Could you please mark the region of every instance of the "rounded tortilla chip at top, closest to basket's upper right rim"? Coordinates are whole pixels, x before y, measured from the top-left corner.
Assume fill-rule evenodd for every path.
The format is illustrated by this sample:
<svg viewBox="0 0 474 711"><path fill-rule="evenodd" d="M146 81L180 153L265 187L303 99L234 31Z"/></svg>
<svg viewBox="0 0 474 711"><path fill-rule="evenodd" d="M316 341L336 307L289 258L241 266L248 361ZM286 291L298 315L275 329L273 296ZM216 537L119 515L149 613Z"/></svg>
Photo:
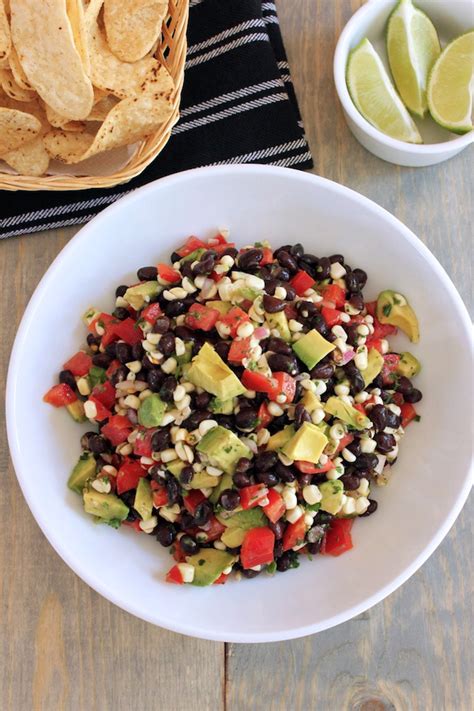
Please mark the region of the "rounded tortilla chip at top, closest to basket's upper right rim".
<svg viewBox="0 0 474 711"><path fill-rule="evenodd" d="M104 25L110 49L122 62L148 54L161 32L168 0L104 0Z"/></svg>

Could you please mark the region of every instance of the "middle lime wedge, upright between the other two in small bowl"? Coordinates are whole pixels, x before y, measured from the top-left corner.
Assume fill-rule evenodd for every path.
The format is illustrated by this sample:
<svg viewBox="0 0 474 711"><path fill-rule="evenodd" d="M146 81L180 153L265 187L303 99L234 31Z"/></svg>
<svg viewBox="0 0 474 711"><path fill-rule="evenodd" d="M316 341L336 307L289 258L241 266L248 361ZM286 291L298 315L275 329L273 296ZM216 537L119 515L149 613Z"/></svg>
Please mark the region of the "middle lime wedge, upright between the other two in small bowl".
<svg viewBox="0 0 474 711"><path fill-rule="evenodd" d="M388 61L403 103L421 118L428 108L428 75L440 52L430 18L411 0L400 0L388 21Z"/></svg>

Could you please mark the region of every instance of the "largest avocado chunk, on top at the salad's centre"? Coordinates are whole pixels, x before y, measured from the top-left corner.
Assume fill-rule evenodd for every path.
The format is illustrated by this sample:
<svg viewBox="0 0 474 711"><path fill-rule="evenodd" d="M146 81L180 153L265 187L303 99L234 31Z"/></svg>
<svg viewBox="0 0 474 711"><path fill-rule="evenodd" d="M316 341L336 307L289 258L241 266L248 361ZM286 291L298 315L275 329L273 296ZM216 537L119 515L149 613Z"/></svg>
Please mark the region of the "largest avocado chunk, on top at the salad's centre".
<svg viewBox="0 0 474 711"><path fill-rule="evenodd" d="M209 343L205 343L193 358L186 377L220 400L229 400L245 392L238 377Z"/></svg>

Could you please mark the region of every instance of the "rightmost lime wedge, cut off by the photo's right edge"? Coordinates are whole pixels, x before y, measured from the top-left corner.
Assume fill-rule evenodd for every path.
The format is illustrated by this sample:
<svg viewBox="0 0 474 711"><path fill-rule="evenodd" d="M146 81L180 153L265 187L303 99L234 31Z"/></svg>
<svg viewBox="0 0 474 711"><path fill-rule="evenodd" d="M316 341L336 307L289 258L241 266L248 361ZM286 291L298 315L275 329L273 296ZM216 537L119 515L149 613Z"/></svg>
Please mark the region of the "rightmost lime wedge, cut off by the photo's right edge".
<svg viewBox="0 0 474 711"><path fill-rule="evenodd" d="M474 30L444 48L428 81L428 107L436 123L454 133L472 130Z"/></svg>

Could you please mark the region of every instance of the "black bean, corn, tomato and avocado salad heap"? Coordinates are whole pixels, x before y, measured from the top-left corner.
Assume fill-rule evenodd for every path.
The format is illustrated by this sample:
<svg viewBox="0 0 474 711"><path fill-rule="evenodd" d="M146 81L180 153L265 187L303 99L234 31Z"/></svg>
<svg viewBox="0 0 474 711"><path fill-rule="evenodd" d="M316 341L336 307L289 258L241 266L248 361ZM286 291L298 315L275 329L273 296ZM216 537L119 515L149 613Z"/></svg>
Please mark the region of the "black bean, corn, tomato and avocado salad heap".
<svg viewBox="0 0 474 711"><path fill-rule="evenodd" d="M68 486L85 511L153 535L172 583L223 583L352 548L377 509L408 423L419 340L391 290L303 245L242 249L190 237L171 265L142 267L115 308L90 308L87 347L45 401L94 430Z"/></svg>

